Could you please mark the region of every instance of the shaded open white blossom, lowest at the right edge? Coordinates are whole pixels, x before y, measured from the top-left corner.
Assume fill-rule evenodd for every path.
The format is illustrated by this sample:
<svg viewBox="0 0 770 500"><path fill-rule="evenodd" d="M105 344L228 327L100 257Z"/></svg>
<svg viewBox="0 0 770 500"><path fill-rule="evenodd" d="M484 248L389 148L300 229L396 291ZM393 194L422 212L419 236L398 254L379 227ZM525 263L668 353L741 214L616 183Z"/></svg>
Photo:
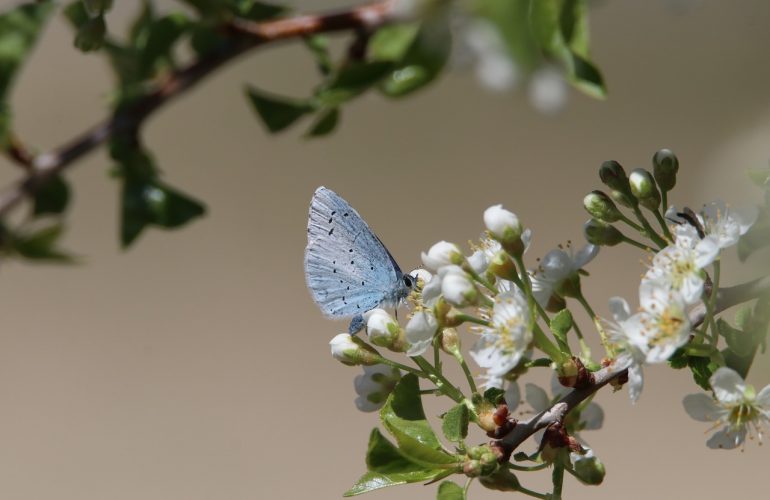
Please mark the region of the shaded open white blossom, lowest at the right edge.
<svg viewBox="0 0 770 500"><path fill-rule="evenodd" d="M719 431L706 442L709 448L733 449L747 435L757 434L762 440L763 427L770 422L770 385L757 394L731 368L719 368L709 379L714 397L706 394L685 396L684 409L695 420L713 422Z"/></svg>

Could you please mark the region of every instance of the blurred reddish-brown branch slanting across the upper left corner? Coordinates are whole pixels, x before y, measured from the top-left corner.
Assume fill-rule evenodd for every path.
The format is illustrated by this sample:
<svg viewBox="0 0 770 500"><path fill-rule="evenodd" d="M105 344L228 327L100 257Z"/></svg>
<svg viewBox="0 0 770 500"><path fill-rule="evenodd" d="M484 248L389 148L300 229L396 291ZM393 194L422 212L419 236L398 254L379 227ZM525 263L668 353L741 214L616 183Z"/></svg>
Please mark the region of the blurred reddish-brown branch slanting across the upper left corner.
<svg viewBox="0 0 770 500"><path fill-rule="evenodd" d="M400 14L399 10L398 0L384 0L347 10L299 15L274 21L258 23L236 19L229 22L222 26L222 32L229 40L223 50L202 56L172 72L132 105L116 111L112 116L61 146L33 157L21 142L15 142L15 146L8 151L9 157L25 167L28 173L0 192L0 216L6 215L49 179L111 137L135 133L154 111L244 52L273 42L318 33L347 30L360 33L361 30L370 30L396 20Z"/></svg>

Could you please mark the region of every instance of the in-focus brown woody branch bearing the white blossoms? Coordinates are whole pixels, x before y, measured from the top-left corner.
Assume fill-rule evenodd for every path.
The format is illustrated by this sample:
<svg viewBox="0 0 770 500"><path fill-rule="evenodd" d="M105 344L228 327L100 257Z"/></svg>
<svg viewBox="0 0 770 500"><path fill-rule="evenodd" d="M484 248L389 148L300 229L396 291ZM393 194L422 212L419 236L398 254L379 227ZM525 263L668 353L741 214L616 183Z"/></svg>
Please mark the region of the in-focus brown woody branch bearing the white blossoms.
<svg viewBox="0 0 770 500"><path fill-rule="evenodd" d="M731 287L720 288L717 292L717 305L714 314L755 299L768 292L770 292L770 276ZM706 307L700 304L690 312L689 316L692 327L697 327L703 323L706 317ZM609 366L594 372L592 375L593 382L590 385L573 390L550 408L546 408L528 420L517 422L513 429L496 443L504 451L504 456L510 457L511 453L521 443L540 429L545 429L552 424L562 423L570 410L613 380L627 377L628 370L618 370L613 366Z"/></svg>

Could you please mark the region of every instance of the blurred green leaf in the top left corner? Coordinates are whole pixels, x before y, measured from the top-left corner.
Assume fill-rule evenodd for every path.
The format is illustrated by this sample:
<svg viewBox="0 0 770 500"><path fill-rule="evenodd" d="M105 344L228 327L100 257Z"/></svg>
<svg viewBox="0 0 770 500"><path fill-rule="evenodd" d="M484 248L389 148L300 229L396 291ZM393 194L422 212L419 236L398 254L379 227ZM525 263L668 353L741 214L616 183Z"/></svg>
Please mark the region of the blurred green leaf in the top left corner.
<svg viewBox="0 0 770 500"><path fill-rule="evenodd" d="M53 9L52 1L26 2L0 14L0 148L10 140L11 86Z"/></svg>

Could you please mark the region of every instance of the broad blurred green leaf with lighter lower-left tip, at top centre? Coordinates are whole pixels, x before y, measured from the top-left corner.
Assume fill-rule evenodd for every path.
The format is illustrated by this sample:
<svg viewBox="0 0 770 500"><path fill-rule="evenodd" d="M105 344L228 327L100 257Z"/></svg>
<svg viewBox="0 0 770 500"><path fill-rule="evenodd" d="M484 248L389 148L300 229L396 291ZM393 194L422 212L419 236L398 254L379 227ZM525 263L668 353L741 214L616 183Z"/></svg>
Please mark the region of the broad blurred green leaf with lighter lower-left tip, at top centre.
<svg viewBox="0 0 770 500"><path fill-rule="evenodd" d="M424 87L444 69L451 48L449 13L439 9L422 22L398 67L383 80L380 90L389 97L402 97ZM395 53L398 48L389 49Z"/></svg>

